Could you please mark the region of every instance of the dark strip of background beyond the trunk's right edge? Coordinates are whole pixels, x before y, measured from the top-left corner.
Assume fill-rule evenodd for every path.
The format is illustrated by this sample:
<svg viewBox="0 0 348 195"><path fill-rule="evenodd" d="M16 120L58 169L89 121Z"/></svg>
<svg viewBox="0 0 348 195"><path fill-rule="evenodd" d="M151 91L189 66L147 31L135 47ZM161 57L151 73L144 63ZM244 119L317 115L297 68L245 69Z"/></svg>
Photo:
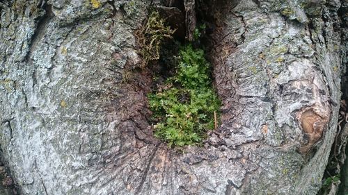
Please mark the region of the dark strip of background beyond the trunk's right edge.
<svg viewBox="0 0 348 195"><path fill-rule="evenodd" d="M348 60L347 60L347 24L348 17L347 6L345 1L341 1L342 5L338 10L338 17L340 23L335 26L336 31L340 31L341 34L341 48L340 56L342 64L340 67L341 72L341 99L340 99L340 112L338 119L338 129L335 135L335 141L331 148L329 162L326 166L323 186L318 194L334 193L343 195L348 193Z"/></svg>

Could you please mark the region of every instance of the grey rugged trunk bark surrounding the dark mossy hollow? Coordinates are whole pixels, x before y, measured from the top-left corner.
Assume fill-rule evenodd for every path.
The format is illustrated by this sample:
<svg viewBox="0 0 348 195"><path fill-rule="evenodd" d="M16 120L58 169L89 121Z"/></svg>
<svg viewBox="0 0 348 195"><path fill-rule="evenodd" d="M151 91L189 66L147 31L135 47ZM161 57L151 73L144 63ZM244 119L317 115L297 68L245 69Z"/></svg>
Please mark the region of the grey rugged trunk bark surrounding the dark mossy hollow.
<svg viewBox="0 0 348 195"><path fill-rule="evenodd" d="M165 5L0 2L1 155L20 194L317 193L347 2L197 2L223 106L219 129L184 152L153 137L151 69L137 68L148 8Z"/></svg>

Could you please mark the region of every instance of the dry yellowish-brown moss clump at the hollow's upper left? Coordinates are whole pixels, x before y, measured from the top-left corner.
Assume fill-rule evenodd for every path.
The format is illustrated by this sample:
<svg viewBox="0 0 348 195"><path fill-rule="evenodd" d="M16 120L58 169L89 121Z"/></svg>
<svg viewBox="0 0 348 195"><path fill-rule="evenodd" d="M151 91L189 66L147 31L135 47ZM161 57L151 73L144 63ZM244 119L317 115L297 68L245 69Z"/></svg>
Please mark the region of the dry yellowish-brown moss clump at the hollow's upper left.
<svg viewBox="0 0 348 195"><path fill-rule="evenodd" d="M171 39L175 30L166 26L165 19L159 16L159 12L151 12L148 22L141 31L140 40L142 45L141 55L143 56L142 67L148 62L159 59L159 50L165 39Z"/></svg>

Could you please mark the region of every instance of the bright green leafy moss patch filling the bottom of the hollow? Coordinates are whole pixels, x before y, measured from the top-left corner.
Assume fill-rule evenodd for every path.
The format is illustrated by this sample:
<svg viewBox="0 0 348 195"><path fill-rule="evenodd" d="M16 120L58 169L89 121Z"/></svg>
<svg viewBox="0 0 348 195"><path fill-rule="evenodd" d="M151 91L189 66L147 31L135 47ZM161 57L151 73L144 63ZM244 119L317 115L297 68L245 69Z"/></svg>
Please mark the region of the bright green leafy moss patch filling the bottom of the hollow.
<svg viewBox="0 0 348 195"><path fill-rule="evenodd" d="M210 64L201 49L180 49L177 74L166 80L166 90L149 94L155 136L169 146L199 144L214 129L220 101L212 89Z"/></svg>

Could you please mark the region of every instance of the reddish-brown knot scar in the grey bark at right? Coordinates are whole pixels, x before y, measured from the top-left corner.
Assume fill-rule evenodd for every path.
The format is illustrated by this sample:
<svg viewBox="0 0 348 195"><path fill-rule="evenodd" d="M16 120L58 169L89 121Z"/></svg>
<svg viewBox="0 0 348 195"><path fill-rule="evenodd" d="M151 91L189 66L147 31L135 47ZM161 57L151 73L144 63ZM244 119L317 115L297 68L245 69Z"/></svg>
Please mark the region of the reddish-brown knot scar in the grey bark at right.
<svg viewBox="0 0 348 195"><path fill-rule="evenodd" d="M318 108L317 104L302 108L297 113L297 119L303 130L307 143L300 148L301 153L307 153L311 147L322 137L327 124L329 123L329 107Z"/></svg>

